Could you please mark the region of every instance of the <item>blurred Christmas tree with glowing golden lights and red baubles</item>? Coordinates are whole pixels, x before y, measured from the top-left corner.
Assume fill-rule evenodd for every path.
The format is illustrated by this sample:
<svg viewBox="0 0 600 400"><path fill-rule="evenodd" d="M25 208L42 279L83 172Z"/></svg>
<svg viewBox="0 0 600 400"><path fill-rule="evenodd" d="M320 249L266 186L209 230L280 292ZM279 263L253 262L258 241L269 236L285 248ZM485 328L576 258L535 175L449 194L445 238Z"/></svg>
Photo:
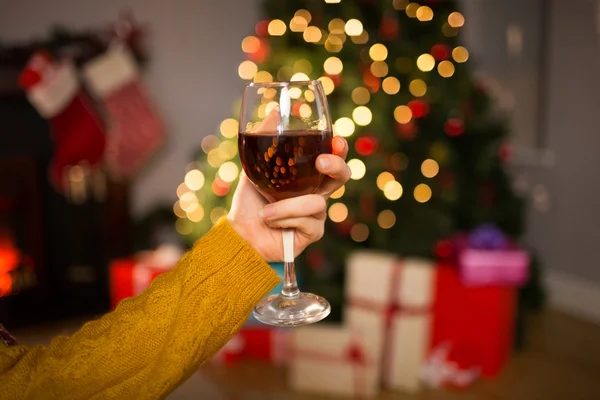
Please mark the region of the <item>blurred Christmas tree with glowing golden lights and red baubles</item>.
<svg viewBox="0 0 600 400"><path fill-rule="evenodd" d="M521 235L522 201L504 165L506 127L460 44L465 18L456 2L263 5L265 19L242 41L240 78L319 79L334 134L350 146L352 179L332 196L325 237L299 260L303 289L336 309L344 260L354 249L445 257L446 238L482 224ZM219 134L202 140L177 190L177 229L190 242L229 207L241 170L238 110L239 103Z"/></svg>

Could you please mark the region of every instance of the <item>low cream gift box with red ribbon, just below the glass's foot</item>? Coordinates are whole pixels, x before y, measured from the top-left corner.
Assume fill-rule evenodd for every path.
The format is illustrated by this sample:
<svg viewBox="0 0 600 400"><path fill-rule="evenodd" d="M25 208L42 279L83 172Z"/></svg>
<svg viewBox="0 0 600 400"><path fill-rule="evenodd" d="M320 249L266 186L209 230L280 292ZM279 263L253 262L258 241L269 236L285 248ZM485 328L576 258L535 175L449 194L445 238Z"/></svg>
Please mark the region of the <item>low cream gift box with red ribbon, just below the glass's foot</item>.
<svg viewBox="0 0 600 400"><path fill-rule="evenodd" d="M372 398L379 382L366 340L348 327L318 325L290 333L288 384L311 394Z"/></svg>

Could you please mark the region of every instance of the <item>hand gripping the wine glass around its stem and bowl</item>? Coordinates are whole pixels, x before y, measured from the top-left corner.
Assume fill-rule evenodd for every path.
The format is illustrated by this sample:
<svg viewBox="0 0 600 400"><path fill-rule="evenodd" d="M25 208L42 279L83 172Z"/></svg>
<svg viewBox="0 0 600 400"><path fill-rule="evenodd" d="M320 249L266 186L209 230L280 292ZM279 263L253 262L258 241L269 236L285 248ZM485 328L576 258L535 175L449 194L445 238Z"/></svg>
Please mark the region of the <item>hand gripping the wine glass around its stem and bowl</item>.
<svg viewBox="0 0 600 400"><path fill-rule="evenodd" d="M267 262L283 260L282 228L295 229L294 252L300 254L323 237L327 199L350 178L350 168L344 161L347 155L348 143L336 136L333 154L321 154L317 158L317 170L326 175L317 193L272 204L242 173L227 220Z"/></svg>

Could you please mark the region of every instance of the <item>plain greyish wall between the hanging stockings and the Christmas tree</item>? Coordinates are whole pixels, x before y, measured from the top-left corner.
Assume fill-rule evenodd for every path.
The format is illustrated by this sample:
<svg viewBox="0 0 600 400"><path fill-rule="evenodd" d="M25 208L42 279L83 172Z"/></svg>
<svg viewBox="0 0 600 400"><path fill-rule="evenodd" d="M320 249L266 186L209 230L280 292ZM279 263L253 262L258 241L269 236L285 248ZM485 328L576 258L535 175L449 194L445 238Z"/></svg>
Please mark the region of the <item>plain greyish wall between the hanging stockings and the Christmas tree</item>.
<svg viewBox="0 0 600 400"><path fill-rule="evenodd" d="M148 24L152 60L146 82L169 134L166 151L136 182L134 211L139 215L160 201L175 200L175 189L201 138L231 115L242 88L237 78L243 59L240 42L257 20L255 2L0 0L0 40L43 37L53 24L103 27L129 6Z"/></svg>

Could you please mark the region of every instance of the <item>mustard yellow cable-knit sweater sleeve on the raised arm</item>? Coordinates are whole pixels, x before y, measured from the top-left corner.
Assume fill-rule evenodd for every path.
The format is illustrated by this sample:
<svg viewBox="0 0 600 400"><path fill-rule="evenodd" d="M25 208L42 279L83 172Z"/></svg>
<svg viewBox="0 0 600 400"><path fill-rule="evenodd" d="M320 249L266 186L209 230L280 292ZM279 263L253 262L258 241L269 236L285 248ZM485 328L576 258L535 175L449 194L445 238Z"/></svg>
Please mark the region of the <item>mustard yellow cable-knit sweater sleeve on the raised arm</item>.
<svg viewBox="0 0 600 400"><path fill-rule="evenodd" d="M279 282L222 221L141 295L49 346L0 342L0 399L161 399Z"/></svg>

